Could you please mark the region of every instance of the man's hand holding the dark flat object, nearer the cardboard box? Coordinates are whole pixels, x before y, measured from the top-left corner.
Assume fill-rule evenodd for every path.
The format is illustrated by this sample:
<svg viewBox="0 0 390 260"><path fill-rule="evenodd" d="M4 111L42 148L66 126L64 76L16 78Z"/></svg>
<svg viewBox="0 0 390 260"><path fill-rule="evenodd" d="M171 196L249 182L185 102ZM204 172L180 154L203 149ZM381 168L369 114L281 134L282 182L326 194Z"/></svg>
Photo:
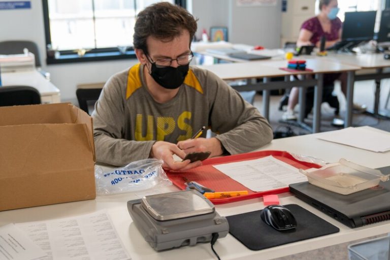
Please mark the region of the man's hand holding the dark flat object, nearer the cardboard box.
<svg viewBox="0 0 390 260"><path fill-rule="evenodd" d="M179 149L176 144L164 141L155 142L150 150L150 157L163 160L163 168L165 169L186 171L202 165L201 161L194 161L193 163L191 163L190 160L177 161L173 158L173 154L176 154L182 159L186 155L186 153Z"/></svg>

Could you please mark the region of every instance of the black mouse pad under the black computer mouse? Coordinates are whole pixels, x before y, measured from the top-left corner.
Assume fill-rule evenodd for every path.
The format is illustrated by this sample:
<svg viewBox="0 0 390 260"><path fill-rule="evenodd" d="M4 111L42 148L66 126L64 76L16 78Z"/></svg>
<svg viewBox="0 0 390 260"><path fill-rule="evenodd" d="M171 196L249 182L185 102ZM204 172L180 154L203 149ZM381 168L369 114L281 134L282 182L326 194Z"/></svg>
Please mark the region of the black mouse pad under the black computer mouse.
<svg viewBox="0 0 390 260"><path fill-rule="evenodd" d="M339 232L337 226L296 204L283 205L297 219L297 228L277 231L261 218L261 210L226 217L229 233L250 250L261 250Z"/></svg>

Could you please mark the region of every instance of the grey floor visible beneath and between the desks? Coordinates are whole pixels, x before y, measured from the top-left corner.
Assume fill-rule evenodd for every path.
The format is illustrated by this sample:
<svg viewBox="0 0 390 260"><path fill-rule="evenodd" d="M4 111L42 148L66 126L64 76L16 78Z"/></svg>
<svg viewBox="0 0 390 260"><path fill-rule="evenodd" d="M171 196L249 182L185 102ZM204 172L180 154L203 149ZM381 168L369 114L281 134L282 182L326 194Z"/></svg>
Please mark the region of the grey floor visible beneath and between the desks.
<svg viewBox="0 0 390 260"><path fill-rule="evenodd" d="M382 80L381 83L381 96L380 96L380 108L384 108L384 104L387 98L387 95L390 91L390 79L389 80ZM366 104L369 109L373 108L374 104L374 91L375 91L375 85L374 81L360 81L355 83L354 87L354 97L353 100L355 103L359 104ZM339 102L340 102L340 116L343 118L343 115L345 114L345 98L343 94L340 92L340 86L336 84L335 86L335 93L338 95ZM275 131L287 131L288 127L291 128L291 131L295 135L304 135L309 134L308 131L305 129L302 129L297 126L291 126L285 123L280 123L279 120L282 116L282 111L278 110L279 107L279 101L281 99L281 95L271 95L271 106L270 106L270 123ZM390 103L390 102L389 102ZM256 94L254 106L259 109L259 111L262 111L262 96L259 94ZM296 108L296 111L298 111L298 107ZM386 111L390 115L390 104L388 104L388 110ZM333 131L337 130L339 128L332 126L331 122L334 118L334 109L330 108L328 104L323 103L321 106L321 132L327 132L327 131ZM311 124L312 123L312 115L309 115L308 119L305 120L306 123ZM352 117L352 126L363 126L363 125L370 125L375 128L379 128L385 131L390 132L390 120L383 120L383 119L377 119L367 114L353 114ZM384 234L385 235L385 234ZM383 236L384 236L383 235ZM320 248L317 250L311 250L304 253L299 253L295 255L285 256L277 258L277 260L293 260L293 259L300 259L300 260L311 260L311 259L317 259L317 260L325 260L325 259L334 259L334 260L344 260L349 259L348 258L348 245L361 242L361 241L367 241L371 238L352 241L349 243L343 243L335 246Z"/></svg>

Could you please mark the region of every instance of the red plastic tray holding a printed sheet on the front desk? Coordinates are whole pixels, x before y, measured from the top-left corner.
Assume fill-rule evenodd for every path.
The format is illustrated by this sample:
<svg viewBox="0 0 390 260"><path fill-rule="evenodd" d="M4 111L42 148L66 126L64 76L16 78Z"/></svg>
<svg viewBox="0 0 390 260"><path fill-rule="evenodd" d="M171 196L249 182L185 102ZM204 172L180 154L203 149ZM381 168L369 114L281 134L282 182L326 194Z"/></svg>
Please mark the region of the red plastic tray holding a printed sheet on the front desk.
<svg viewBox="0 0 390 260"><path fill-rule="evenodd" d="M224 204L242 200L249 200L253 198L263 197L268 194L277 194L282 192L287 192L289 190L288 187L273 189L273 190L265 190L254 192L241 183L233 180L228 175L223 174L213 167L213 165L232 163L234 161L242 161L242 160L251 160L257 159L272 155L275 158L284 161L291 166L296 168L300 168L303 170L309 168L321 168L321 166L306 163L305 161L300 161L294 158L291 154L286 151L258 151L258 152L250 152L250 153L241 153L223 157L215 157L206 159L203 161L203 165L197 168L193 168L191 170L185 172L169 172L167 171L168 178L175 184L177 187L181 189L185 189L185 181L184 177L190 181L196 181L200 184L212 188L215 191L237 191L237 190L248 190L247 195L242 195L238 197L224 198L224 199L210 199L213 204Z"/></svg>

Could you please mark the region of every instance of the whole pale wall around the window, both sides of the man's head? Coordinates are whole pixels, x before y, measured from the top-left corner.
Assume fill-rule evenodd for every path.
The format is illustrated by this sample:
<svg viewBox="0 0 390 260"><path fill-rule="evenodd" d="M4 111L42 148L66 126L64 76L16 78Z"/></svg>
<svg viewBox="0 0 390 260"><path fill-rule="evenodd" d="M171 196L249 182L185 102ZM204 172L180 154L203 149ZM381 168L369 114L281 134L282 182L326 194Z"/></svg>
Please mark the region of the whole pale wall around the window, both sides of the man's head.
<svg viewBox="0 0 390 260"><path fill-rule="evenodd" d="M188 0L191 2L191 0ZM233 43L278 47L280 39L280 0L277 7L237 7L235 0L192 0L188 5L199 18L198 33L210 26L231 26ZM77 103L76 86L104 82L113 74L137 63L136 59L52 64L47 66L45 30L41 0L31 0L31 9L0 10L0 41L30 40L38 44L43 69L61 91L62 102Z"/></svg>

